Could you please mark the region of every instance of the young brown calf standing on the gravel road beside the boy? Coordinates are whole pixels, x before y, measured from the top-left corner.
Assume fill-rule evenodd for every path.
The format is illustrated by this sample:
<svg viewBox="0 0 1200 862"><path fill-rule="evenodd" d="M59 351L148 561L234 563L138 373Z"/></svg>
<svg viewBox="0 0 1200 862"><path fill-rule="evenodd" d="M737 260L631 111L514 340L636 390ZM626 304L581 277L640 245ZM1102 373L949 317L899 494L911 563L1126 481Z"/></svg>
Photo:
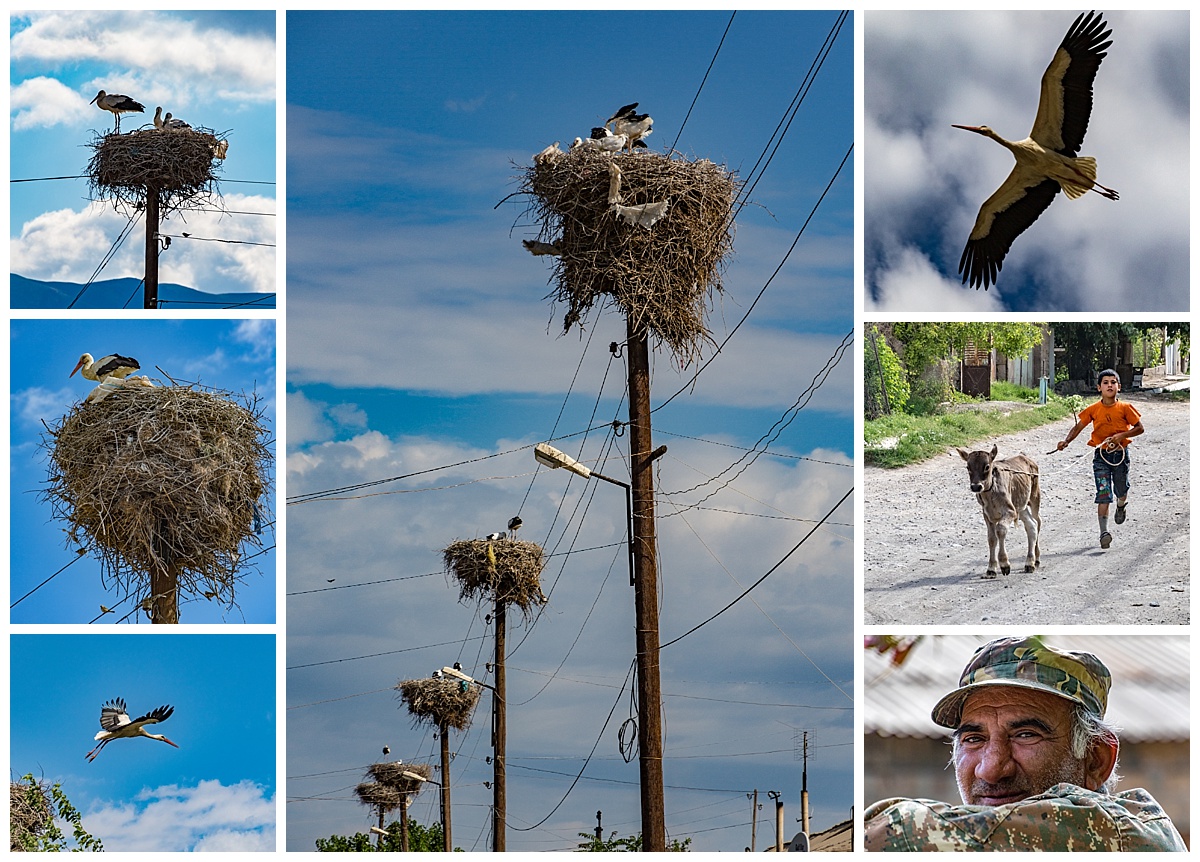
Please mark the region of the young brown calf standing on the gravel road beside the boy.
<svg viewBox="0 0 1200 862"><path fill-rule="evenodd" d="M1014 455L996 460L996 447L986 451L964 451L959 455L967 462L971 490L983 508L983 520L988 525L988 574L996 576L996 565L1006 575L1009 573L1008 555L1004 552L1004 534L1009 523L1021 519L1025 534L1030 539L1025 555L1025 570L1033 571L1042 563L1038 537L1042 533L1042 490L1038 487L1038 466L1026 455ZM997 561L997 549L998 561Z"/></svg>

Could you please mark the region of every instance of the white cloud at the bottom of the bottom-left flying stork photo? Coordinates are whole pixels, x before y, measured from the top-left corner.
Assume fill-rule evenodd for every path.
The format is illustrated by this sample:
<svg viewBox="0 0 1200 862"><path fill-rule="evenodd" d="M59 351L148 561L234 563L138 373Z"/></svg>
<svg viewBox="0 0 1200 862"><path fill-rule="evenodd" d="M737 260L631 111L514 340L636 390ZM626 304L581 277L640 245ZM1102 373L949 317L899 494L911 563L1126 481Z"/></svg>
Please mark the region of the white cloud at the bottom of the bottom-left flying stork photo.
<svg viewBox="0 0 1200 862"><path fill-rule="evenodd" d="M84 813L106 850L274 850L275 797L253 782L145 789Z"/></svg>

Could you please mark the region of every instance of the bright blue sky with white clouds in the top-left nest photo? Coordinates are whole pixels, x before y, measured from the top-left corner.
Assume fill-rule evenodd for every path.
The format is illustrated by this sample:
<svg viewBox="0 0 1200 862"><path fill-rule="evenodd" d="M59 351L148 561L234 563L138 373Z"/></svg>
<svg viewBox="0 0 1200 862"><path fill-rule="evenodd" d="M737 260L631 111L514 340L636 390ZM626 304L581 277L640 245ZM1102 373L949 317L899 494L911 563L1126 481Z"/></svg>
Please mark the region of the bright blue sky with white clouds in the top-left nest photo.
<svg viewBox="0 0 1200 862"><path fill-rule="evenodd" d="M193 126L228 132L218 169L223 209L163 221L162 233L238 240L176 239L160 258L160 279L210 293L275 291L275 12L32 12L10 18L10 169L13 179L82 174L95 134L112 114L89 104L98 90L146 107L121 131L148 125L163 106ZM252 182L244 182L252 181ZM127 215L89 203L86 180L14 182L10 267L30 279L86 281L120 235ZM64 241L70 237L71 241ZM101 279L140 277L139 223Z"/></svg>

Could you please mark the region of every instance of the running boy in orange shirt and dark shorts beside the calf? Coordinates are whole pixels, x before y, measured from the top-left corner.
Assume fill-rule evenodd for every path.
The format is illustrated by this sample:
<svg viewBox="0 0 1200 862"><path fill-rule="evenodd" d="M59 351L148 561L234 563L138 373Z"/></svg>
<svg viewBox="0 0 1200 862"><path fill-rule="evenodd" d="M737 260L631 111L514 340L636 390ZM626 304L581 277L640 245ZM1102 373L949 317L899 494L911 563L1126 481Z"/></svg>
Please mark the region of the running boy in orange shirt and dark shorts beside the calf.
<svg viewBox="0 0 1200 862"><path fill-rule="evenodd" d="M1096 447L1092 457L1092 474L1096 477L1096 514L1100 521L1100 547L1112 544L1109 532L1109 503L1112 492L1117 496L1117 514L1112 519L1124 523L1126 498L1129 495L1129 438L1140 435L1141 414L1126 401L1117 401L1121 391L1121 378L1112 369L1100 372L1096 388L1100 400L1079 413L1079 423L1067 432L1067 438L1058 442L1057 451L1062 451L1079 436L1080 431L1092 425L1092 437L1087 445Z"/></svg>

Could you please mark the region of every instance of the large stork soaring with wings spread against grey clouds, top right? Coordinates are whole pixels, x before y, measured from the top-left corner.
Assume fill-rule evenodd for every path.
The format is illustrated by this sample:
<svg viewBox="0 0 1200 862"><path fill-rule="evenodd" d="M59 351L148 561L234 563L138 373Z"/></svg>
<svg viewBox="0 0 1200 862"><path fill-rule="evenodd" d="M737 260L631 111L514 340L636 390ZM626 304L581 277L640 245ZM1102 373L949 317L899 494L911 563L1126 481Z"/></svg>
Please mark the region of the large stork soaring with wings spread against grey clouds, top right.
<svg viewBox="0 0 1200 862"><path fill-rule="evenodd" d="M984 200L959 259L962 283L988 289L996 282L1004 255L1022 231L1037 221L1061 188L1068 198L1088 191L1110 200L1120 196L1096 181L1096 160L1079 156L1092 115L1092 82L1112 32L1103 16L1080 13L1042 76L1042 98L1033 131L1025 140L1006 140L988 126L959 126L1008 148L1016 167ZM953 125L953 124L952 124Z"/></svg>

